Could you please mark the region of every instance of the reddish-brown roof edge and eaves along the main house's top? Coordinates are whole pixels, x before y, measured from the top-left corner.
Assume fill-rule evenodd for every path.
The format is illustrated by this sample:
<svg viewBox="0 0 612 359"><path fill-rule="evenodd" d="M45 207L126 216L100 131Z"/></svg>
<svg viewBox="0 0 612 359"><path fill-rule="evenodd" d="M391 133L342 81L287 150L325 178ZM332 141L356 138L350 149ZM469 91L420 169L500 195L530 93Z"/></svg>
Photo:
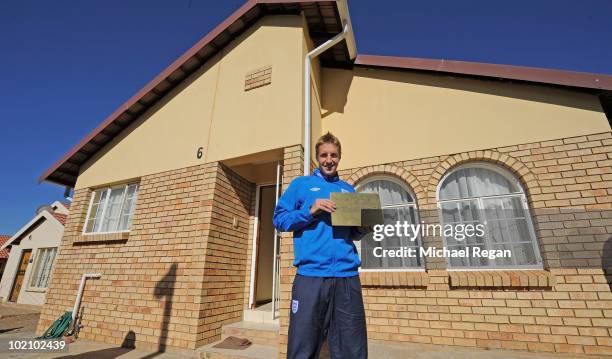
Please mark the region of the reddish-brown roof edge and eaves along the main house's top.
<svg viewBox="0 0 612 359"><path fill-rule="evenodd" d="M238 36L244 28L251 26L253 23L251 20L257 19L258 16L265 16L268 13L266 9L270 11L266 6L272 6L274 8L280 6L282 11L289 11L287 9L297 7L304 12L316 8L319 11L319 16L323 16L321 14L321 8L329 6L323 4L331 3L335 4L335 15L332 17L337 16L339 19L335 18L335 21L340 20L346 23L349 26L349 32L345 42L346 49L343 50L346 52L341 51L340 55L338 55L339 57L332 57L332 62L330 64L322 63L325 66L343 66L347 64L347 66L352 66L354 64L358 66L477 76L498 80L529 81L546 85L573 87L578 90L612 91L612 76L608 75L463 61L358 55L346 0L249 0L206 36L200 39L153 80L147 83L128 101L119 106L119 108L85 136L77 145L72 147L61 159L50 166L38 178L38 182L47 181L61 186L73 187L76 184L80 167L97 151L108 144L109 138L112 139L117 133L129 126L129 124L135 121L144 111L146 111L146 109L164 97L178 83L193 73L194 68L201 66L214 56L214 54L216 54L215 51L218 51L219 43L221 43L221 48L224 47L235 38L233 36ZM291 11L294 12L296 10L293 9ZM330 16L328 16L328 18L329 17ZM343 24L341 24L341 27L342 25ZM236 27L238 30L236 30ZM233 30L236 31L234 32ZM321 32L321 34L327 36L329 35L329 31L333 32L336 30L333 27L326 27L326 30ZM229 40L227 40L228 35ZM318 38L318 40L321 40L321 38ZM215 44L215 41L217 41L217 44ZM334 52L333 56L337 54L337 52ZM348 58L346 55L348 55ZM354 62L352 60L354 60ZM163 91L160 92L160 89L163 89Z"/></svg>

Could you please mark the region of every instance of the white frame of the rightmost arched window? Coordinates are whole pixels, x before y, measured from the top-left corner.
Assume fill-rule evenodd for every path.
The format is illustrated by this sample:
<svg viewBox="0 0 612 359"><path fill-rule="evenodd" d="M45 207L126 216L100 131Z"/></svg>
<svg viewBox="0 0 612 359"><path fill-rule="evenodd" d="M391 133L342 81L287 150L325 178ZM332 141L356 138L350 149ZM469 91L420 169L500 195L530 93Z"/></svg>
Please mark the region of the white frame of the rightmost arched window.
<svg viewBox="0 0 612 359"><path fill-rule="evenodd" d="M453 173L455 173L458 170L462 170L462 169L467 169L467 168L482 168L482 169L486 169L486 170L490 170L490 171L494 171L497 174L503 176L505 179L507 179L511 184L514 185L515 188L518 189L517 192L513 192L513 193L508 193L508 194L503 194L503 195L493 195L493 196L481 196L481 197L465 197L465 198L455 198L455 199L446 199L446 200L440 200L440 189L442 188L442 184L446 181L446 179ZM531 212L529 211L529 203L527 201L527 197L525 196L525 189L523 188L522 183L519 181L518 178L516 178L515 176L512 175L512 173L510 173L510 171L501 168L497 165L493 165L493 164L489 164L489 163L485 163L485 162L470 162L470 163L466 163L464 165L460 165L457 166L456 168L453 168L451 171L449 171L448 173L446 173L442 179L438 182L438 186L436 188L436 205L438 208L438 216L440 219L440 224L444 225L444 216L442 214L442 204L443 203L453 203L453 202L462 202L462 201L477 201L478 202L478 206L480 210L484 209L484 204L482 202L483 199L490 199L490 198L520 198L520 202L522 204L522 208L523 211L525 213L525 221L527 222L527 228L529 230L529 234L531 235L531 239L530 239L530 243L533 247L534 250L534 255L536 258L536 264L532 264L532 265L514 265L514 266L499 266L499 267L492 267L492 266L483 266L483 267L453 267L450 264L450 259L449 258L445 258L446 259L446 269L447 271L496 271L496 270L541 270L544 268L544 263L542 261L542 256L540 254L540 248L538 246L538 237L536 236L535 233L535 229L533 226L533 218L531 216ZM485 218L484 221L484 225L486 228L487 225L487 221ZM526 243L527 241L523 241L523 242L517 242L517 243ZM442 243L444 244L444 246L446 247L446 238L444 238L444 236L442 236ZM489 240L489 234L488 232L485 233L485 249L489 249L489 245L490 245L490 240Z"/></svg>

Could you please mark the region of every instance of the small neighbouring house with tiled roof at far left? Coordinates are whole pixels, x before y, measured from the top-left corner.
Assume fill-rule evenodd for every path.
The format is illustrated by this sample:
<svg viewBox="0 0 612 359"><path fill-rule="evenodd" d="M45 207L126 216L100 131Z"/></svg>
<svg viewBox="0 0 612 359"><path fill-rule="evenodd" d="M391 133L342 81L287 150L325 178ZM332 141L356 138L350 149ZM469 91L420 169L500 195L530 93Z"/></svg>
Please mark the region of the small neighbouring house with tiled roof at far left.
<svg viewBox="0 0 612 359"><path fill-rule="evenodd" d="M3 302L44 304L68 213L63 202L55 201L39 207L15 235L0 237L0 261L7 254L0 279Z"/></svg>

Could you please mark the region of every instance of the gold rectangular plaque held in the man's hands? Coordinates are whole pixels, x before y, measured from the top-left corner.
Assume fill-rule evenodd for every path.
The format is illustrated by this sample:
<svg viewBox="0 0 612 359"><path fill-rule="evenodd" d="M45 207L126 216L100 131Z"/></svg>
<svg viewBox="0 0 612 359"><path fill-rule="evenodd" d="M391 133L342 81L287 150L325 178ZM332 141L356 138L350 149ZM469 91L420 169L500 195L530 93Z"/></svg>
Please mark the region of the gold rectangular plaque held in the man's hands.
<svg viewBox="0 0 612 359"><path fill-rule="evenodd" d="M377 193L332 192L330 200L336 203L332 226L360 227L384 223Z"/></svg>

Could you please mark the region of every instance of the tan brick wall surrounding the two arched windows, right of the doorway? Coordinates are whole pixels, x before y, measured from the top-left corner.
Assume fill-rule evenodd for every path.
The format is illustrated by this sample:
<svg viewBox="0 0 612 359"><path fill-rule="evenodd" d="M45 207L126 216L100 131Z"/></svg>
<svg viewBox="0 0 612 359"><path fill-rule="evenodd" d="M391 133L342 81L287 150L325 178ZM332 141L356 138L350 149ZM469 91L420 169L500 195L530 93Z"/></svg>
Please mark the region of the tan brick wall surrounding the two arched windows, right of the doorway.
<svg viewBox="0 0 612 359"><path fill-rule="evenodd" d="M415 193L419 209L432 213L423 210L436 208L444 174L470 161L497 164L526 189L544 260L539 271L448 272L443 258L428 258L425 273L362 272L369 338L612 354L612 294L603 269L612 255L611 149L607 132L340 171L352 184L395 176ZM288 150L285 160L301 163L300 156ZM439 222L437 216L421 219ZM285 238L281 357L295 273L291 237ZM423 244L441 247L442 239L424 238Z"/></svg>

